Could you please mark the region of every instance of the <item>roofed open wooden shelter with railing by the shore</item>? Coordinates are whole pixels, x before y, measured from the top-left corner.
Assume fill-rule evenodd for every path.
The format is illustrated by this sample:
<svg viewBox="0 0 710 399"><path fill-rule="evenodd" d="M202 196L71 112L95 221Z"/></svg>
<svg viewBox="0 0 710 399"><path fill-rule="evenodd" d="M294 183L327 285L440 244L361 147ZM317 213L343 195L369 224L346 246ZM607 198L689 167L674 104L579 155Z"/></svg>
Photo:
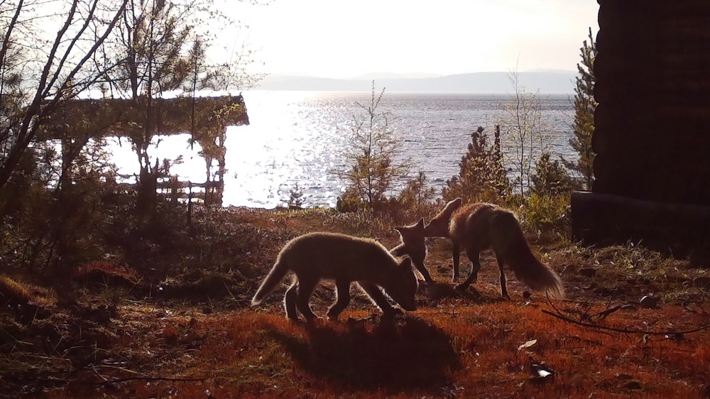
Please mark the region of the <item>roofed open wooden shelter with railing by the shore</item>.
<svg viewBox="0 0 710 399"><path fill-rule="evenodd" d="M148 114L148 109L151 113ZM150 125L146 128L146 121ZM152 136L190 133L199 143L206 165L204 182L178 182L174 177L156 182L156 189L175 198L188 197L189 187L201 187L205 204L222 204L227 126L249 124L244 97L177 97L173 99L84 99L66 102L49 118L41 122L38 141L59 140L62 143L62 170L71 183L72 159L82 151L89 139L108 136L130 138L143 145ZM217 171L211 173L217 160ZM125 186L125 185L121 185ZM126 187L124 187L126 189ZM191 196L192 197L192 196Z"/></svg>

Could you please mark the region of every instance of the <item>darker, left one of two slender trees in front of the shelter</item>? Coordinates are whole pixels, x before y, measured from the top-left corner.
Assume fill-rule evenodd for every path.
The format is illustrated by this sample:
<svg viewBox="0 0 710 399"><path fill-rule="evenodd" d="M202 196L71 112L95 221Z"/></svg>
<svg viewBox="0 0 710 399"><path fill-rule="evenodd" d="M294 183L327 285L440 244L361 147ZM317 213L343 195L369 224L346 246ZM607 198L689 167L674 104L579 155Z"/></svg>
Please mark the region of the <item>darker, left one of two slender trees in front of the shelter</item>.
<svg viewBox="0 0 710 399"><path fill-rule="evenodd" d="M155 97L180 89L195 81L195 67L202 62L204 48L199 37L193 38L194 26L186 17L196 13L195 4L163 0L131 1L116 30L113 53L119 67L111 75L112 92L129 96L145 109L145 119L135 126L129 138L140 163L138 177L138 212L152 214L157 200L158 177L168 173L169 164L152 163L148 148L156 133ZM188 39L192 38L192 46Z"/></svg>

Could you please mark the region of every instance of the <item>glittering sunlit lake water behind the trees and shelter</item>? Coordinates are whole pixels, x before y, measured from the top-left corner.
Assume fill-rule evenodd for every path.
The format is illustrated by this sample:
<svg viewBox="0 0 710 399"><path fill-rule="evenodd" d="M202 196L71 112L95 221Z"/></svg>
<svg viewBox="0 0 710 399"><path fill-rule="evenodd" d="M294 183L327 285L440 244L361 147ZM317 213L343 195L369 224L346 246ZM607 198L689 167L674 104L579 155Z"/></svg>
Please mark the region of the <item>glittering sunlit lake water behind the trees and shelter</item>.
<svg viewBox="0 0 710 399"><path fill-rule="evenodd" d="M349 137L354 117L364 117L359 104L369 104L369 93L245 92L249 126L229 127L226 133L224 206L272 208L288 202L297 185L305 206L332 207L344 190L334 170L348 165ZM542 94L547 149L554 158L574 160L569 146L574 107L571 96ZM426 173L430 185L443 187L459 172L459 161L471 141L471 132L484 126L493 136L506 95L388 94L379 111L400 143L400 158L410 158L412 174ZM182 180L204 182L206 167L190 149L188 135L160 138L151 155L182 163L170 168ZM503 151L510 148L503 138ZM119 173L138 171L136 155L126 139L114 140L111 153ZM399 186L404 180L397 182Z"/></svg>

